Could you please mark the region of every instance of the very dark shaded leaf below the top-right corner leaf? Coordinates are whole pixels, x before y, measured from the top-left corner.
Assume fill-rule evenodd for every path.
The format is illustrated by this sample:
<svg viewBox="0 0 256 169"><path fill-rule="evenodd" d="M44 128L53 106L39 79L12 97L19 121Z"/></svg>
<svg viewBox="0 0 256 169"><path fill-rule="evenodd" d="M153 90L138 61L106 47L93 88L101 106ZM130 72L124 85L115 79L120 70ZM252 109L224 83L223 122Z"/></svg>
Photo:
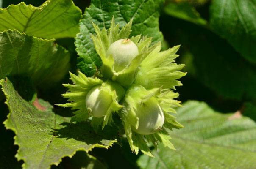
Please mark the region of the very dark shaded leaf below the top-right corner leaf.
<svg viewBox="0 0 256 169"><path fill-rule="evenodd" d="M197 77L204 85L224 98L256 99L255 65L208 30L199 29L189 37Z"/></svg>

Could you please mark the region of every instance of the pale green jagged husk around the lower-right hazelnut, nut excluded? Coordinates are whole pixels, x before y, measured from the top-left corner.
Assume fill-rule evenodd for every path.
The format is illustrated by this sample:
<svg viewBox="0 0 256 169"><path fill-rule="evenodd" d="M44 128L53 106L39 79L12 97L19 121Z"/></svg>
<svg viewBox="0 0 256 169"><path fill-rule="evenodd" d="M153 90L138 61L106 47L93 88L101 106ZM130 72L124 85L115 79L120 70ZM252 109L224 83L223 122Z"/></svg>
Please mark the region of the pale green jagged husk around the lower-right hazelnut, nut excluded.
<svg viewBox="0 0 256 169"><path fill-rule="evenodd" d="M162 129L156 133L150 135L138 134L132 131L131 125L135 126L136 128L138 127L139 117L136 115L136 111L139 110L139 106L141 106L143 102L147 101L151 97L155 97L159 101L165 116L164 125ZM175 117L170 114L171 112L175 112L175 110L170 108L170 106L180 106L179 101L173 100L177 97L178 94L174 93L172 90L161 88L146 90L141 85L131 85L131 87L127 90L125 98L122 100L124 107L119 111L119 115L124 124L125 134L133 152L138 154L139 150L141 150L144 154L153 156L150 153L147 142L152 142L156 147L158 141L163 143L165 147L175 149L173 144L169 141L171 137L168 136L169 134L166 131L166 128L170 130L172 130L172 128L184 128L183 125L179 124L175 120Z"/></svg>

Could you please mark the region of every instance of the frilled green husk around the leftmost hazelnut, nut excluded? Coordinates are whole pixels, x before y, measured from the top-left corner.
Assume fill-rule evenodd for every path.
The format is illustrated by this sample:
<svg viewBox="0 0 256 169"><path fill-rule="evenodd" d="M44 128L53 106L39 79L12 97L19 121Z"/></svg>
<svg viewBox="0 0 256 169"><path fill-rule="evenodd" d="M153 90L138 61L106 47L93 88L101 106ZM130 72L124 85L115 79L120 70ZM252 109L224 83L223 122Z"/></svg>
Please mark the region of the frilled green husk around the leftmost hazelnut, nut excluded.
<svg viewBox="0 0 256 169"><path fill-rule="evenodd" d="M70 103L66 104L58 104L58 106L62 107L71 107L72 110L76 110L74 112L74 116L71 118L70 122L75 121L84 121L90 117L88 109L86 108L86 96L89 91L95 87L96 85L101 85L100 90L104 90L112 97L112 103L109 106L109 109L106 110L106 115L101 118L92 117L92 127L97 131L98 126L102 124L102 129L105 125L110 124L112 120L112 113L117 112L122 108L118 101L125 94L123 88L109 80L103 82L103 80L95 78L86 77L83 73L78 71L78 76L70 73L70 79L74 83L74 85L63 84L68 88L67 93L63 94L64 98L68 98ZM104 98L103 98L104 99Z"/></svg>

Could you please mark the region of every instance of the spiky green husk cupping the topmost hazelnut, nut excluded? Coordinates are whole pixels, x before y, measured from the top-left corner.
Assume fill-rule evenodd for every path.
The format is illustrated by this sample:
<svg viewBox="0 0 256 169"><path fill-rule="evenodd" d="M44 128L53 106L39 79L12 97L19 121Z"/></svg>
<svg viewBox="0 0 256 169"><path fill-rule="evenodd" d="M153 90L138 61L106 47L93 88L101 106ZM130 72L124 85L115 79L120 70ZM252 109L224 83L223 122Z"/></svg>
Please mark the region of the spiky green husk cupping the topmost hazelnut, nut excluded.
<svg viewBox="0 0 256 169"><path fill-rule="evenodd" d="M150 43L152 38L147 38L146 36L141 38L141 35L137 35L136 37L132 37L131 41L133 41L139 49L139 55L137 55L131 62L128 64L126 68L122 71L114 71L114 58L112 55L107 56L107 50L109 46L119 40L129 38L131 33L131 24L132 20L128 22L125 27L123 27L120 32L119 24L115 25L114 16L111 21L111 26L109 30L106 30L104 27L101 31L97 25L94 23L93 27L95 28L96 35L91 35L92 40L94 42L95 49L100 56L103 67L102 67L102 75L107 79L111 79L113 81L119 82L123 86L129 86L134 82L136 78L136 70L139 67L140 63L149 55L150 51L153 50L156 45L151 47Z"/></svg>

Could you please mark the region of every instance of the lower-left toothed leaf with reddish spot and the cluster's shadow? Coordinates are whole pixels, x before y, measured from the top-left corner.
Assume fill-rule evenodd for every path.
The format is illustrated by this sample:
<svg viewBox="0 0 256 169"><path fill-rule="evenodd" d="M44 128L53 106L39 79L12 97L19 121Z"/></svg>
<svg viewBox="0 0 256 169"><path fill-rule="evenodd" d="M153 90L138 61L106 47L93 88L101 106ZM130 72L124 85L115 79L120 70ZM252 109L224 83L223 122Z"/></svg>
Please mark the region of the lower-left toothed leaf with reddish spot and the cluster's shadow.
<svg viewBox="0 0 256 169"><path fill-rule="evenodd" d="M33 102L22 99L9 79L1 80L10 113L4 122L15 132L14 144L19 145L16 157L23 160L23 169L49 169L65 156L72 157L78 150L90 151L94 147L109 148L117 129L94 133L88 121L70 124L70 117L52 112L52 106L41 99Z"/></svg>

